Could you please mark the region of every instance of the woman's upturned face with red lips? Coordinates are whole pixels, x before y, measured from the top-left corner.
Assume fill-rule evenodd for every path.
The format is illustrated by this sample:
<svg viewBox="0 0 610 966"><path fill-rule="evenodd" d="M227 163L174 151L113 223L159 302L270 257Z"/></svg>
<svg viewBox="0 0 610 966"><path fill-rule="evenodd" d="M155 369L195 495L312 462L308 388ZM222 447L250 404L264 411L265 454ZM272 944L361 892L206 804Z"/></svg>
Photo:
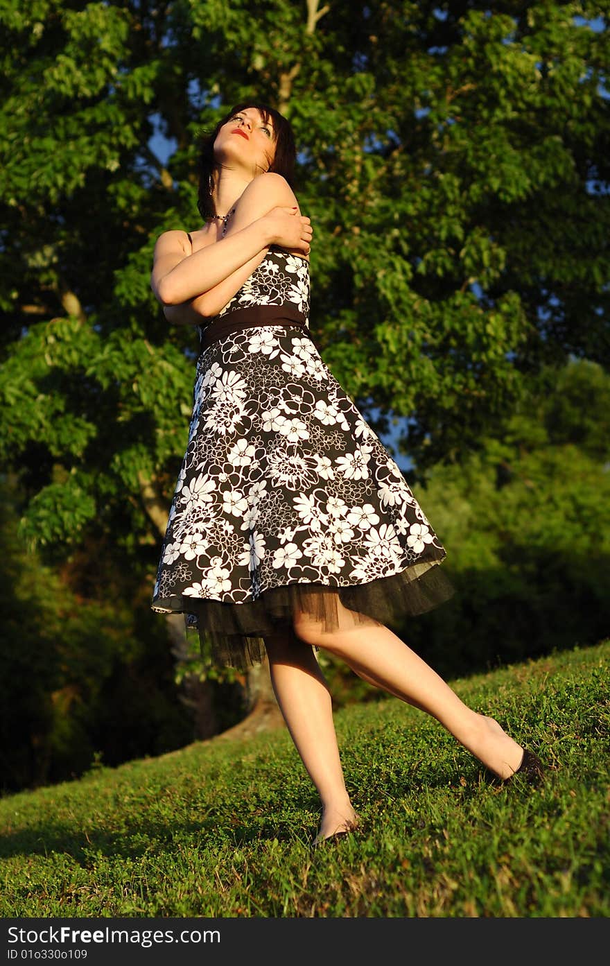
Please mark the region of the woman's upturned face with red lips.
<svg viewBox="0 0 610 966"><path fill-rule="evenodd" d="M256 107L234 114L220 128L214 141L214 156L245 167L253 177L267 171L275 156L275 131L271 120L264 124Z"/></svg>

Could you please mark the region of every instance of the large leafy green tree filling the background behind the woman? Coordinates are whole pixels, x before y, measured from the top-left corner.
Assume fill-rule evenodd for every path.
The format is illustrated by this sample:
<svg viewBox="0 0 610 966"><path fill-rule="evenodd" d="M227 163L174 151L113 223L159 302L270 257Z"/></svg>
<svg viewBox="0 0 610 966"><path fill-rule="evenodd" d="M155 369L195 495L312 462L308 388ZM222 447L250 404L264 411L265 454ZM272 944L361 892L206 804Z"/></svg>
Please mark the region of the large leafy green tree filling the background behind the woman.
<svg viewBox="0 0 610 966"><path fill-rule="evenodd" d="M583 20L604 15L5 0L0 451L22 533L49 561L111 535L152 586L195 351L154 302L153 242L193 226L197 132L244 97L301 148L322 354L421 473L480 446L542 362L607 364L608 32Z"/></svg>

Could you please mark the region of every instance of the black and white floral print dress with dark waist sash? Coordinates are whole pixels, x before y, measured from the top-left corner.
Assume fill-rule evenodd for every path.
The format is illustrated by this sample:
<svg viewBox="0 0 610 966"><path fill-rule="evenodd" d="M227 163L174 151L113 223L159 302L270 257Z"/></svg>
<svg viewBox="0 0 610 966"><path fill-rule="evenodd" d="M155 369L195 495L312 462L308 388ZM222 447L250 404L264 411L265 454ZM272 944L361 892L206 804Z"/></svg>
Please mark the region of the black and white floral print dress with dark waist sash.
<svg viewBox="0 0 610 966"><path fill-rule="evenodd" d="M322 361L306 259L271 246L206 327L153 611L217 662L263 660L296 608L392 623L453 593L402 472ZM244 321L245 320L245 321Z"/></svg>

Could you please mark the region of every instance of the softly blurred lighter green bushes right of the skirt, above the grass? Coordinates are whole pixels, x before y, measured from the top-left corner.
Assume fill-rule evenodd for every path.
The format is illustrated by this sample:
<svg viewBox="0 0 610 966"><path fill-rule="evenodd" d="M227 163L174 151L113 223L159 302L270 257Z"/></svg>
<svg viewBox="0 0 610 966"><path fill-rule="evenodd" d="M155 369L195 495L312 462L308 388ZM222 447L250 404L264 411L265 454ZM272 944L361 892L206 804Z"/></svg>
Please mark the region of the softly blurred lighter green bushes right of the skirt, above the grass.
<svg viewBox="0 0 610 966"><path fill-rule="evenodd" d="M498 439L483 440L467 461L433 468L417 491L457 594L400 633L441 673L607 633L609 393L610 379L593 363L544 369Z"/></svg>

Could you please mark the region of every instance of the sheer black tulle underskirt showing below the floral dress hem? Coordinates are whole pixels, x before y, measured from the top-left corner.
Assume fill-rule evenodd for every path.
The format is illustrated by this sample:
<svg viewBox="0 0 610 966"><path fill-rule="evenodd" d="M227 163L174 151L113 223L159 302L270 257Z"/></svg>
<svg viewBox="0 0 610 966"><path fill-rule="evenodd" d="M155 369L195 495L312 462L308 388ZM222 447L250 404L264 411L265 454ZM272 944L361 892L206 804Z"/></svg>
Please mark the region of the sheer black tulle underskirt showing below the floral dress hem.
<svg viewBox="0 0 610 966"><path fill-rule="evenodd" d="M215 664L246 670L264 660L265 637L292 634L297 614L304 613L323 636L359 624L397 626L405 616L431 611L455 593L439 566L443 558L444 554L368 583L293 582L263 590L256 600L240 604L170 596L155 600L154 610L184 613L187 630L199 633L202 655L211 648Z"/></svg>

